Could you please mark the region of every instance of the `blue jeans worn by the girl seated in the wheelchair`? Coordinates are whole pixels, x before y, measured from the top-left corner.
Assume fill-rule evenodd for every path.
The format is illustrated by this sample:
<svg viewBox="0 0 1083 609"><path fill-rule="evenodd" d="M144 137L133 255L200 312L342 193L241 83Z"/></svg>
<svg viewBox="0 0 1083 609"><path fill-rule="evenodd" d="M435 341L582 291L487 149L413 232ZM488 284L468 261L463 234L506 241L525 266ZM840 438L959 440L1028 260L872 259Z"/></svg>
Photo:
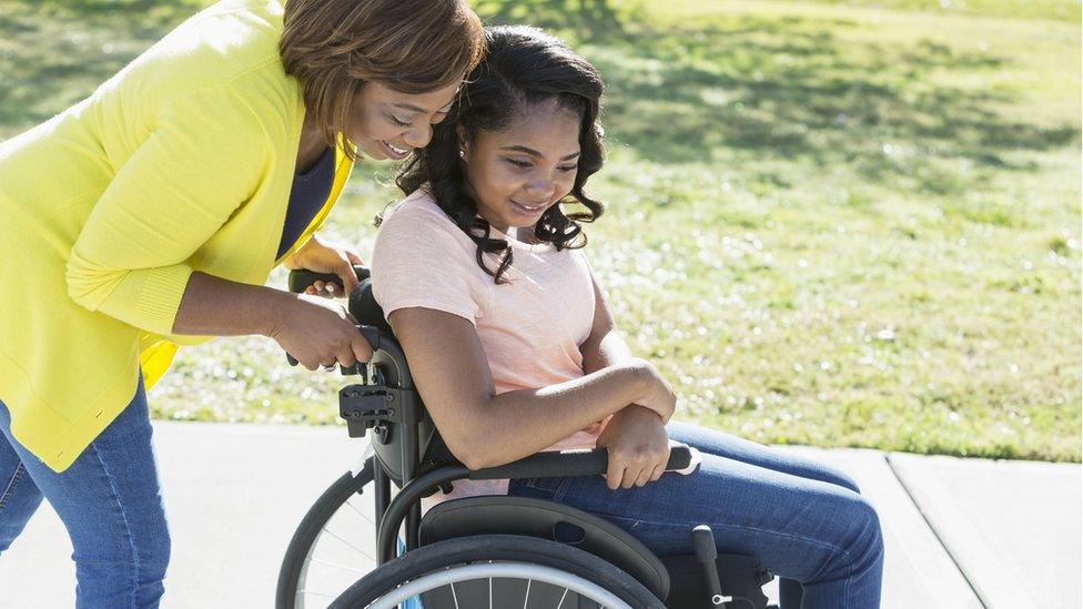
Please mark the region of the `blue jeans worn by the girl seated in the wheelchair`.
<svg viewBox="0 0 1083 609"><path fill-rule="evenodd" d="M720 552L756 556L782 578L783 609L880 606L880 521L850 477L704 427L667 429L702 454L692 474L627 490L609 490L600 476L530 478L513 480L508 494L598 515L658 556L692 554L692 527L710 525Z"/></svg>

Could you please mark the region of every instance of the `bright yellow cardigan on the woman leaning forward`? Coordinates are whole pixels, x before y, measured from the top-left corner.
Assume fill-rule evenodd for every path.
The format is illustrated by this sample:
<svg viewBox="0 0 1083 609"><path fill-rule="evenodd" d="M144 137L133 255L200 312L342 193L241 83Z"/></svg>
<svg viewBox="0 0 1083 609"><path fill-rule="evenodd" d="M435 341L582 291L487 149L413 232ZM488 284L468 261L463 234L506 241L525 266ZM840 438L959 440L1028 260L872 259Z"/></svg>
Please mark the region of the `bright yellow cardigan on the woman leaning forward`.
<svg viewBox="0 0 1083 609"><path fill-rule="evenodd" d="M262 285L275 261L304 103L277 0L181 24L87 100L0 143L0 402L64 470L152 385L193 271ZM352 164L338 151L327 202ZM289 253L286 255L290 255Z"/></svg>

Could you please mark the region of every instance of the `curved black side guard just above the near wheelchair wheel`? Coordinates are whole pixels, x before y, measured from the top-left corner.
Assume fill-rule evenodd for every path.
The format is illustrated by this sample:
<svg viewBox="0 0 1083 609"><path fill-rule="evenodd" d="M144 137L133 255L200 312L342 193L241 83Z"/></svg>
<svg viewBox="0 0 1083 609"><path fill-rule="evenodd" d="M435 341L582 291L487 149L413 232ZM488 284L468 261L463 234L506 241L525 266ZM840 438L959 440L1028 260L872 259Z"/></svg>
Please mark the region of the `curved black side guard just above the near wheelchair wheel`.
<svg viewBox="0 0 1083 609"><path fill-rule="evenodd" d="M528 497L444 501L422 518L422 546L475 535L523 535L557 541L611 562L660 599L670 591L666 566L638 539L586 511Z"/></svg>

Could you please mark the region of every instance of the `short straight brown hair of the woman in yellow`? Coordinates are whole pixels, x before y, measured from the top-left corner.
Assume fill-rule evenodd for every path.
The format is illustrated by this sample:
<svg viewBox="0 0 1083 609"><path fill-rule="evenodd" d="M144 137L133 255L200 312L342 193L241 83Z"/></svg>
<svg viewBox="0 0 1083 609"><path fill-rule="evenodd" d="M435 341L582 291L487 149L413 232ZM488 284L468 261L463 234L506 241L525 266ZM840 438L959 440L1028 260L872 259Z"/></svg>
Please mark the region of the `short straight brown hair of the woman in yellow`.
<svg viewBox="0 0 1083 609"><path fill-rule="evenodd" d="M284 21L282 64L330 145L364 83L426 93L466 75L485 45L466 0L287 0Z"/></svg>

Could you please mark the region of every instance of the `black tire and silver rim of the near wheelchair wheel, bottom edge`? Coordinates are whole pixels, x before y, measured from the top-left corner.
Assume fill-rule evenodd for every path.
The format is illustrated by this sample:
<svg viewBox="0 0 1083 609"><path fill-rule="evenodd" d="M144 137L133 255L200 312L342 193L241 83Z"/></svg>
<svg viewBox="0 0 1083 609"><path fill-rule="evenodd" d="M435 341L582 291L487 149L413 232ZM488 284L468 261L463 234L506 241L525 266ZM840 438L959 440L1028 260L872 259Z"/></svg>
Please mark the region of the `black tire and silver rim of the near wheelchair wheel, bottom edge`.
<svg viewBox="0 0 1083 609"><path fill-rule="evenodd" d="M366 575L335 599L331 607L345 609L372 605L381 608L384 603L373 605L381 598L385 598L388 607L397 607L397 603L405 599L395 599L394 595L404 593L402 586L405 582L416 581L422 586L411 593L437 593L448 586L446 582L448 578L454 582L479 581L487 578L488 595L492 599L494 580L506 581L509 578L526 577L509 575L509 569L518 569L519 572L537 572L539 576L548 574L546 577L550 578L559 576L551 579L557 582L556 591L564 587L565 593L574 591L581 595L580 601L587 598L606 607L665 609L661 600L635 578L597 556L564 544L514 535L460 537L421 547ZM456 571L462 572L462 580L456 579ZM441 578L445 581L442 582ZM538 581L539 586L543 582L553 585L545 577L536 580L533 577L527 579L532 582ZM424 588L428 580L433 581L433 587ZM529 587L526 590L529 592ZM603 603L605 597L600 592L609 595L609 598L616 602ZM448 593L454 596L454 588L451 592L444 592L445 596ZM516 598L516 609L526 607L525 598ZM563 601L564 597L560 597L560 602ZM428 600L424 602L426 606L431 605ZM455 597L455 605L458 605L457 597ZM465 606L478 607L470 602Z"/></svg>

